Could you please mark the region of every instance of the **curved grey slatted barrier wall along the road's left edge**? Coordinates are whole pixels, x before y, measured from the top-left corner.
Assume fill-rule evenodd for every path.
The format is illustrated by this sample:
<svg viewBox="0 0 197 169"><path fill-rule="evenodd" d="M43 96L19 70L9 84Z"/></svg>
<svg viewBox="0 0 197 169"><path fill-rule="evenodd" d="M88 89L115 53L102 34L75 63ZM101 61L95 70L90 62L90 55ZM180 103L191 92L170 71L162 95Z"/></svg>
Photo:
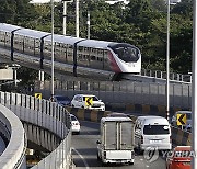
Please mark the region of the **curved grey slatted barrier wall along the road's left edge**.
<svg viewBox="0 0 197 169"><path fill-rule="evenodd" d="M58 147L55 147L56 149L34 168L70 167L70 117L69 112L65 108L47 100L39 100L31 95L8 92L0 92L0 102L12 110L22 121L46 128L61 138L61 143L57 145ZM12 145L14 144L15 143L12 143Z"/></svg>

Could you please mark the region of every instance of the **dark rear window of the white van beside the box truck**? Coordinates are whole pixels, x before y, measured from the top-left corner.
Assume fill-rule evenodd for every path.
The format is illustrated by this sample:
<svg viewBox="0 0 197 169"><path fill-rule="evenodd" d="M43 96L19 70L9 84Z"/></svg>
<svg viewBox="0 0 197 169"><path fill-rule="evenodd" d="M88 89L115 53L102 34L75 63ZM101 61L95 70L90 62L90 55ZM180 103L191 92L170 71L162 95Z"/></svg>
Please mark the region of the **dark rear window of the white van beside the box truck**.
<svg viewBox="0 0 197 169"><path fill-rule="evenodd" d="M170 128L167 125L144 125L143 134L146 135L170 134Z"/></svg>

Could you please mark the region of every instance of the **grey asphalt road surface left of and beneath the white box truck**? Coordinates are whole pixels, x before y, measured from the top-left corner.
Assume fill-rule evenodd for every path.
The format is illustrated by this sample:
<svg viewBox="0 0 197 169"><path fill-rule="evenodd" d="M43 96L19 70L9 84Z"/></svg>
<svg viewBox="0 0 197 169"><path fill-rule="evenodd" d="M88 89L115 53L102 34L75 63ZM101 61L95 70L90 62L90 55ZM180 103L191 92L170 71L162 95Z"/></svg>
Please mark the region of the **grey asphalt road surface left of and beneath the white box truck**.
<svg viewBox="0 0 197 169"><path fill-rule="evenodd" d="M77 168L101 168L102 162L96 157L96 140L100 138L100 124L81 121L81 133L72 135L72 157ZM132 169L165 169L165 159L159 157L150 162L142 155L136 155L134 166L108 165L103 168L132 168Z"/></svg>

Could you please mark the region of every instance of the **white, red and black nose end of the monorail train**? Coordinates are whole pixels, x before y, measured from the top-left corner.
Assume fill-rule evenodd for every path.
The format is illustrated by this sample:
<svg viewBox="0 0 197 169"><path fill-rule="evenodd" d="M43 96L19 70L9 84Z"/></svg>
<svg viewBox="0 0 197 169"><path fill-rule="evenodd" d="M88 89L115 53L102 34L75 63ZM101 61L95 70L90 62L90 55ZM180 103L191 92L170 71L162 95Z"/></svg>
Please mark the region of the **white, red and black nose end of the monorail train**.
<svg viewBox="0 0 197 169"><path fill-rule="evenodd" d="M112 43L107 46L111 69L114 72L136 72L141 71L140 50L130 44Z"/></svg>

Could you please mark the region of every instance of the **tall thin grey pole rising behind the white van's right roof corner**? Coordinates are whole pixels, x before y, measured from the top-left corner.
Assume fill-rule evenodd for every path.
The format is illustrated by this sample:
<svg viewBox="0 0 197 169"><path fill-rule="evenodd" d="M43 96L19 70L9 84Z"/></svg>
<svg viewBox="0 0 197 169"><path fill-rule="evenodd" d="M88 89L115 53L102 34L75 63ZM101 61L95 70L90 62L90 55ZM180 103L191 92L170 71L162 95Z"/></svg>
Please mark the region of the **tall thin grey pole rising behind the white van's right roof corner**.
<svg viewBox="0 0 197 169"><path fill-rule="evenodd" d="M170 115L170 4L167 0L167 42L166 42L166 119Z"/></svg>

